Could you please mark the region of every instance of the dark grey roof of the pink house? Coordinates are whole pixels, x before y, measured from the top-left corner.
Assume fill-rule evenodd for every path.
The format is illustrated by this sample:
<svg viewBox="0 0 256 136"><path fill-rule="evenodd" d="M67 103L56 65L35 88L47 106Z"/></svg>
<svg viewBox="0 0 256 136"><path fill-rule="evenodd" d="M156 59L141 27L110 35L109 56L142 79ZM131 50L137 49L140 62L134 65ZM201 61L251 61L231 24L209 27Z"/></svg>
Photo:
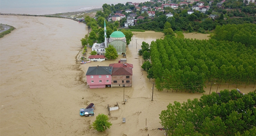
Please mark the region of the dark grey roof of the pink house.
<svg viewBox="0 0 256 136"><path fill-rule="evenodd" d="M112 71L111 66L94 66L89 67L85 75L111 75Z"/></svg>

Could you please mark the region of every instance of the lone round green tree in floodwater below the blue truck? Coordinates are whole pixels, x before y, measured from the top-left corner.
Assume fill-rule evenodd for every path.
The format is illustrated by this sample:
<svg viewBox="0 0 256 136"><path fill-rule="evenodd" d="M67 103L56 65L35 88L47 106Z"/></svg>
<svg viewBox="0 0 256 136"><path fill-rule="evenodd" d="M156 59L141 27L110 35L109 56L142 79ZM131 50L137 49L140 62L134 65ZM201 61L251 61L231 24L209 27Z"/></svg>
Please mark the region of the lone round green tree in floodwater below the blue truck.
<svg viewBox="0 0 256 136"><path fill-rule="evenodd" d="M98 114L92 126L97 131L103 132L106 129L110 128L110 126L112 125L112 123L110 123L108 120L109 120L109 117L107 115Z"/></svg>

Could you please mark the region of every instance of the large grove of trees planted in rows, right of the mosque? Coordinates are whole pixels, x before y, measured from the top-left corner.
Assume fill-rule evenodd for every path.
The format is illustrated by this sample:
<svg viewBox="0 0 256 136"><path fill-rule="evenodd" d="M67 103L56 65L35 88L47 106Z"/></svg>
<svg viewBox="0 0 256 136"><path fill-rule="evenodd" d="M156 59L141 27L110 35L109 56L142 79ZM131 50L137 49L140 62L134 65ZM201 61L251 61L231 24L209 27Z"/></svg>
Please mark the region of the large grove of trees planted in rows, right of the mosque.
<svg viewBox="0 0 256 136"><path fill-rule="evenodd" d="M255 29L256 25L253 26ZM214 38L222 37L220 34L217 32ZM244 36L250 37L248 34ZM150 53L147 59L151 63L144 62L142 68L147 70L149 79L155 79L158 90L203 93L207 81L255 84L255 47L234 42L235 36L227 41L225 36L222 40L197 40L167 35L152 41L150 47L144 42L140 53Z"/></svg>

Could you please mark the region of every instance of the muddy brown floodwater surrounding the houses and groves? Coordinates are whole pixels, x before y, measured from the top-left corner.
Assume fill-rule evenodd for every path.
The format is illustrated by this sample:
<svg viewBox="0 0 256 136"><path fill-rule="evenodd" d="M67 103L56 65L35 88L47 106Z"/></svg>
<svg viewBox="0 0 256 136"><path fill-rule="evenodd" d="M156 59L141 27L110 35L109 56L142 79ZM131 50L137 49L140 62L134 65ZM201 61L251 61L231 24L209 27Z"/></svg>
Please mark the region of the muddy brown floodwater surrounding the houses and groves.
<svg viewBox="0 0 256 136"><path fill-rule="evenodd" d="M151 101L153 84L140 68L142 59L138 49L143 41L150 43L162 38L162 33L134 32L127 47L127 62L134 66L131 88L89 89L85 78L88 67L108 66L117 63L118 59L83 65L76 62L76 55L80 55L80 39L88 32L85 24L45 17L0 18L1 23L16 28L0 39L1 136L162 136L165 132L157 130L161 128L161 110L174 101L202 96L199 93L159 92L154 88ZM230 89L235 87L229 86ZM216 88L214 84L212 91ZM219 90L223 89L224 85ZM249 85L240 90L248 93L254 89ZM123 99L127 100L126 104L122 104ZM111 111L109 118L113 125L105 132L90 128L96 116L79 115L79 109L91 102L95 104L96 116L108 114L108 104L113 106L118 102L120 106L119 110ZM123 117L126 118L124 124ZM145 130L146 118L148 131Z"/></svg>

